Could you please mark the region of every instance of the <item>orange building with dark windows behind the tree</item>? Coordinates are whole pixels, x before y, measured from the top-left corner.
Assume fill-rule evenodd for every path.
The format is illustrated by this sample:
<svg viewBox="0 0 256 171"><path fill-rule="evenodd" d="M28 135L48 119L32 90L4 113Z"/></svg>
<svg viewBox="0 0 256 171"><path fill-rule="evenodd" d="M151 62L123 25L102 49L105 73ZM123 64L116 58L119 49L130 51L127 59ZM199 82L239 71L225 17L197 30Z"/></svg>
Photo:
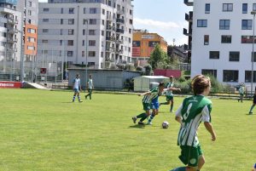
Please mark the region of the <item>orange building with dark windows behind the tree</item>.
<svg viewBox="0 0 256 171"><path fill-rule="evenodd" d="M134 30L132 41L133 62L139 66L147 63L156 44L160 44L160 47L167 53L168 44L163 37L160 37L157 33L149 33L146 30Z"/></svg>

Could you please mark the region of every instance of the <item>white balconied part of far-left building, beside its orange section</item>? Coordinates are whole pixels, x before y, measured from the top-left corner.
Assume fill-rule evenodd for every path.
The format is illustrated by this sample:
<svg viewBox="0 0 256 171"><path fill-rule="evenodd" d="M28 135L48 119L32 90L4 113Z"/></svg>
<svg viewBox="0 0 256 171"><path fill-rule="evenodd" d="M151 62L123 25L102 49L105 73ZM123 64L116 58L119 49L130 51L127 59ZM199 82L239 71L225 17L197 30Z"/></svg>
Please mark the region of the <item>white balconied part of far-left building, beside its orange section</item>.
<svg viewBox="0 0 256 171"><path fill-rule="evenodd" d="M21 13L16 0L0 1L0 71L14 71L21 52Z"/></svg>

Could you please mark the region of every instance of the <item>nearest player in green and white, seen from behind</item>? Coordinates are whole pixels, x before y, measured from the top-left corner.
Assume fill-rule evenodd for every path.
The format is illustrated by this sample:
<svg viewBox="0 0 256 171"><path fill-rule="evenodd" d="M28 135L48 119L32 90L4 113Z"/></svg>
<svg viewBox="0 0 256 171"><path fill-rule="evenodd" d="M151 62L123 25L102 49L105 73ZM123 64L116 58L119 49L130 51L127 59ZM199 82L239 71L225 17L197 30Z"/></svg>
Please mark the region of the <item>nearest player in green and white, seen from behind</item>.
<svg viewBox="0 0 256 171"><path fill-rule="evenodd" d="M197 75L192 80L194 95L183 100L176 111L176 121L181 124L178 133L177 145L181 148L179 159L186 167L174 168L171 171L199 171L205 158L197 137L197 129L201 122L216 140L215 131L211 123L212 101L205 96L210 93L211 82L208 77Z"/></svg>

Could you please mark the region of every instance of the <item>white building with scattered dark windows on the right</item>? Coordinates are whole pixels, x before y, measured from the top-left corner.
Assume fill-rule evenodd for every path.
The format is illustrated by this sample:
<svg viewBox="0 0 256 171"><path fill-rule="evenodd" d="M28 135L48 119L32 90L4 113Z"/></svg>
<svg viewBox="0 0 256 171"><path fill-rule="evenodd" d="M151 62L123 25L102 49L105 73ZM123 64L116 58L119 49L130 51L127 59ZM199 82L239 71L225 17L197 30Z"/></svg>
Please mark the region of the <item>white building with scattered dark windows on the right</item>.
<svg viewBox="0 0 256 171"><path fill-rule="evenodd" d="M192 30L185 32L188 36L192 33L193 37L191 77L196 74L211 73L222 83L249 85L253 54L251 11L256 11L256 2L184 0L184 3L194 6L193 13L186 16ZM254 61L256 61L256 53ZM256 66L253 71L254 83L256 83L255 68Z"/></svg>

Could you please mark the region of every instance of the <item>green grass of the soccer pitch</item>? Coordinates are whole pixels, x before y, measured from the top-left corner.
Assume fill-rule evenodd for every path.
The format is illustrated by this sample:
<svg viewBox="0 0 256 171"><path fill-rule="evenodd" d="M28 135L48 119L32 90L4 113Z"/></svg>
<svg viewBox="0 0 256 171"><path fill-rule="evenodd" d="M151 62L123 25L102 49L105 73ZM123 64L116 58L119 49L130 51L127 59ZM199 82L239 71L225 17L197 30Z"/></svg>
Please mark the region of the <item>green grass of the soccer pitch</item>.
<svg viewBox="0 0 256 171"><path fill-rule="evenodd" d="M167 105L154 125L139 127L131 121L142 112L137 95L93 94L93 100L71 103L72 92L0 89L0 94L0 171L167 171L183 165L177 158L178 123ZM175 98L175 109L182 100ZM247 115L251 101L212 103L218 138L212 142L201 126L207 160L201 170L250 170L256 162L256 115ZM163 121L168 129L160 127Z"/></svg>

